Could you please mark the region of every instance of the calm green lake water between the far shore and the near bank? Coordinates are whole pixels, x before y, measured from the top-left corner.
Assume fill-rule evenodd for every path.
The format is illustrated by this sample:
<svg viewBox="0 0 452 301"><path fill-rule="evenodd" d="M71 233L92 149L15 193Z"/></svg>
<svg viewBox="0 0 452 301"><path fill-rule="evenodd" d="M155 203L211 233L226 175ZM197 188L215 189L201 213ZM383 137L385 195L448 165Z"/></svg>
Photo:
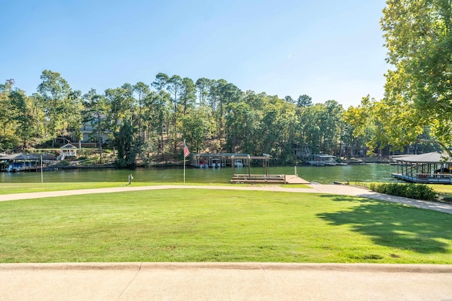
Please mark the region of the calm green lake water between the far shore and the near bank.
<svg viewBox="0 0 452 301"><path fill-rule="evenodd" d="M294 166L270 167L270 174L295 173ZM395 181L391 173L397 171L396 166L389 164L359 164L349 166L297 166L300 178L321 184L333 181ZM236 168L236 173L248 173L248 168ZM263 168L253 167L251 173L263 174ZM117 169L78 169L44 171L44 182L127 182L129 174L133 182L168 182L183 183L183 168L137 168L135 170ZM230 183L232 168L186 168L186 183ZM40 183L41 173L19 172L0 173L0 183Z"/></svg>

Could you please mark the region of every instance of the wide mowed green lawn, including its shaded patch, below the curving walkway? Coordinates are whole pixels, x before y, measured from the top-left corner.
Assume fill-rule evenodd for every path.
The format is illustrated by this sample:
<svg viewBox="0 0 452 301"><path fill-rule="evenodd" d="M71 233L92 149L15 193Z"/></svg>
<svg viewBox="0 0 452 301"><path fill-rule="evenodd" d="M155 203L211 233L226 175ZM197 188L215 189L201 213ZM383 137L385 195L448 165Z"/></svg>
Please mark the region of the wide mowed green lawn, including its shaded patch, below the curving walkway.
<svg viewBox="0 0 452 301"><path fill-rule="evenodd" d="M451 215L359 197L155 190L0 202L0 262L452 264Z"/></svg>

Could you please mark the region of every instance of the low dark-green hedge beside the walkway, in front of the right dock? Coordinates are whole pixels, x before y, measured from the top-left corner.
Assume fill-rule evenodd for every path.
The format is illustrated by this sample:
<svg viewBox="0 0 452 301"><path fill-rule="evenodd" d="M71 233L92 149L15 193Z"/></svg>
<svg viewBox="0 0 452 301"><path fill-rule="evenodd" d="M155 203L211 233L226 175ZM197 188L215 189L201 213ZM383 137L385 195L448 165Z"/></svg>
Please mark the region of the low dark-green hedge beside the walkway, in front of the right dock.
<svg viewBox="0 0 452 301"><path fill-rule="evenodd" d="M375 192L398 197L410 197L411 199L424 199L427 201L438 199L438 193L424 184L371 183L369 188Z"/></svg>

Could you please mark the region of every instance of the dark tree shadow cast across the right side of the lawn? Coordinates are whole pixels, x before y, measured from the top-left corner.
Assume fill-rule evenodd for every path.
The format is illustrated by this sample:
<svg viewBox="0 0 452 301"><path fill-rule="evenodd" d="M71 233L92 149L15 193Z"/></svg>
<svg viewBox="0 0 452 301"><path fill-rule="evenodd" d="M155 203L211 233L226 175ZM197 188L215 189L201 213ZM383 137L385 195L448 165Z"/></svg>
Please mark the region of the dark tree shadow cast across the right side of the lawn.
<svg viewBox="0 0 452 301"><path fill-rule="evenodd" d="M359 197L337 196L333 201L359 202L342 211L317 214L333 226L348 225L378 245L422 254L450 252L450 214Z"/></svg>

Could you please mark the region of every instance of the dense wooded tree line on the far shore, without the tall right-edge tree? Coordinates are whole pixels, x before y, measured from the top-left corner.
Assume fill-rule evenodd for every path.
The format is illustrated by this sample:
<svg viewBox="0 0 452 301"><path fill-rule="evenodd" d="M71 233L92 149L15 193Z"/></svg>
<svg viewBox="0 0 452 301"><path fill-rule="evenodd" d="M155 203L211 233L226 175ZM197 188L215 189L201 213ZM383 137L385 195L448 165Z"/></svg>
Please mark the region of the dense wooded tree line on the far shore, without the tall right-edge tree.
<svg viewBox="0 0 452 301"><path fill-rule="evenodd" d="M270 154L281 162L297 158L294 148L331 153L340 144L356 145L345 123L343 106L329 100L313 104L311 97L280 99L265 92L243 92L226 80L159 73L150 85L125 83L103 93L72 90L61 75L44 70L31 95L0 85L0 149L27 149L57 137L78 141L84 124L93 124L93 141L102 152L109 134L119 166L136 160L168 160L180 156L182 139L191 152ZM364 143L364 140L360 140Z"/></svg>

